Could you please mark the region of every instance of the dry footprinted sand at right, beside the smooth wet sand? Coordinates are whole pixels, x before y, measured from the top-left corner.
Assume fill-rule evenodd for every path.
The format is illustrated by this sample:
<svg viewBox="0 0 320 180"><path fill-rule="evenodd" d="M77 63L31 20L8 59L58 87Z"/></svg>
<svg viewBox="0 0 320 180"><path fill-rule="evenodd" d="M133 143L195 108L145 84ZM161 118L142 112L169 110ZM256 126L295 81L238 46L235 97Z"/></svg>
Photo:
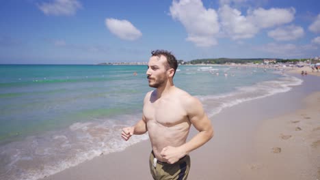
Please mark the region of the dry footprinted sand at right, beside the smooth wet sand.
<svg viewBox="0 0 320 180"><path fill-rule="evenodd" d="M320 179L320 92L304 108L264 121L245 179Z"/></svg>

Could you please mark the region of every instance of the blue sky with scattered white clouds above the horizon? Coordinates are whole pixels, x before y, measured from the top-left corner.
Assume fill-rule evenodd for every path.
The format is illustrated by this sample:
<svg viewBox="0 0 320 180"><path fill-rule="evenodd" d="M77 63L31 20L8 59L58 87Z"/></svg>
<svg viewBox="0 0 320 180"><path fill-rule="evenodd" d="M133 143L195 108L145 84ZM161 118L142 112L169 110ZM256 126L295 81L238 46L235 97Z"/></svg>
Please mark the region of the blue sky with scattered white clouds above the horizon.
<svg viewBox="0 0 320 180"><path fill-rule="evenodd" d="M0 63L320 56L319 0L3 0Z"/></svg>

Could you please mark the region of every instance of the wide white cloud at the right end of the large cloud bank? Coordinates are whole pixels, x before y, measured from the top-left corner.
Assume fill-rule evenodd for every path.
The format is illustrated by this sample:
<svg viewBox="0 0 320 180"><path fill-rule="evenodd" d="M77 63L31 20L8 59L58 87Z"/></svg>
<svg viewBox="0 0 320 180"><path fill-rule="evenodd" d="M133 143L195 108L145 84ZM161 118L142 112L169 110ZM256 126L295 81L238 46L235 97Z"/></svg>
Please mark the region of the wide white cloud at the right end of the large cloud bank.
<svg viewBox="0 0 320 180"><path fill-rule="evenodd" d="M260 28L268 28L293 21L295 9L291 7L289 9L271 8L265 10L260 7L256 10L248 11L248 14L248 20L254 25Z"/></svg>

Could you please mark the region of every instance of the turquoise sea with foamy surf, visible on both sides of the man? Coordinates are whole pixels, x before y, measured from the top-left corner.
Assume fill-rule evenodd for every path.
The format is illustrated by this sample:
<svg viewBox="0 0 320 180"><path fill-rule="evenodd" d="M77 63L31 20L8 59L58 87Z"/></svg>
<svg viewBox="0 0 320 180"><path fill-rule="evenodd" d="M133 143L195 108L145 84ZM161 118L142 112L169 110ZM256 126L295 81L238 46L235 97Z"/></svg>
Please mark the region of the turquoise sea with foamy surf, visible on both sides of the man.
<svg viewBox="0 0 320 180"><path fill-rule="evenodd" d="M0 65L0 179L40 179L99 155L122 140L152 91L147 65ZM180 65L174 85L198 97L209 117L290 91L302 80L280 69Z"/></svg>

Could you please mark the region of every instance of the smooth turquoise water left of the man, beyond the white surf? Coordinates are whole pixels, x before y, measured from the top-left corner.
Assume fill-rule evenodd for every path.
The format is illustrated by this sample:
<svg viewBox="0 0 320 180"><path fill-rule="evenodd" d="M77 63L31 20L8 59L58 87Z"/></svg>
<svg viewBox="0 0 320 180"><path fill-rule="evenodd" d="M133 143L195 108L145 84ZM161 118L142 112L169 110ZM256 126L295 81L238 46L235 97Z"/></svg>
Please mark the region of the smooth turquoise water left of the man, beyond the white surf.
<svg viewBox="0 0 320 180"><path fill-rule="evenodd" d="M145 89L142 66L1 65L0 141L133 112ZM139 75L142 76L142 75Z"/></svg>

